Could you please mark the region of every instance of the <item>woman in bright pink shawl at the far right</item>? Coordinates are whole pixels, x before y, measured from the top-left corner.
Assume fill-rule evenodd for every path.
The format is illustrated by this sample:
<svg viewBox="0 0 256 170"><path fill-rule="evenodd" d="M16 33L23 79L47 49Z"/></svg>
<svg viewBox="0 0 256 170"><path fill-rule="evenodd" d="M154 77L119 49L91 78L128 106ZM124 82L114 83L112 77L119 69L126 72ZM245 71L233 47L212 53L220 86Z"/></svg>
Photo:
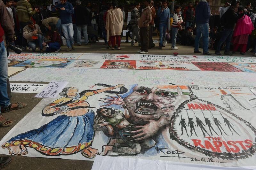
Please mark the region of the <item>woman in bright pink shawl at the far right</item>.
<svg viewBox="0 0 256 170"><path fill-rule="evenodd" d="M249 35L252 34L253 24L250 17L244 16L237 20L232 43L234 44L233 53L240 47L240 54L244 55L248 43Z"/></svg>

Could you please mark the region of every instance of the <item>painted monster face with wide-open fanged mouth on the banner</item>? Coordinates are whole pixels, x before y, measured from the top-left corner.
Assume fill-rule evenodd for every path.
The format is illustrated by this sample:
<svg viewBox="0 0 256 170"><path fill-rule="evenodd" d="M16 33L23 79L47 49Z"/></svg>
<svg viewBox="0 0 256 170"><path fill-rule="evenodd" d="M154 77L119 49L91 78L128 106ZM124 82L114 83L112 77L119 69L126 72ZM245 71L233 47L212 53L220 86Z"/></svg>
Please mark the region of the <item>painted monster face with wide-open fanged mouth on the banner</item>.
<svg viewBox="0 0 256 170"><path fill-rule="evenodd" d="M180 96L183 95L169 89L136 86L133 92L125 97L124 102L132 119L159 119L165 113L173 113L176 110L180 104Z"/></svg>

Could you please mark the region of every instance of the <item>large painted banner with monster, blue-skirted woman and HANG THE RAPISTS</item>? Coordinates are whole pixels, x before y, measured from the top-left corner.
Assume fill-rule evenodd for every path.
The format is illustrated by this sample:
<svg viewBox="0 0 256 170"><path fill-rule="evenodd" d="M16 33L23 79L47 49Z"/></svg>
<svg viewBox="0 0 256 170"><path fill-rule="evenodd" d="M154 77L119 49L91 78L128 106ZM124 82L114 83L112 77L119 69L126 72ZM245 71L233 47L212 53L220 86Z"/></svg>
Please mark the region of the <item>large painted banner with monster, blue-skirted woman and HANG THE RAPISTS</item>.
<svg viewBox="0 0 256 170"><path fill-rule="evenodd" d="M255 89L69 83L4 136L0 153L256 166Z"/></svg>

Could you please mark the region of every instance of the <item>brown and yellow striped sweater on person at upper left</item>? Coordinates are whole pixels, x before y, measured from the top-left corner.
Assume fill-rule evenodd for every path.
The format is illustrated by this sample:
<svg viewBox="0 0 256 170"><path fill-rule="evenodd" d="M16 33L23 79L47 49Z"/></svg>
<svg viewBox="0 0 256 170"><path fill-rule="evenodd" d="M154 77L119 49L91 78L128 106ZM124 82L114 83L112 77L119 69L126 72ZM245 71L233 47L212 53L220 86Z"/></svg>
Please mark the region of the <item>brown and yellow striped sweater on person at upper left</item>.
<svg viewBox="0 0 256 170"><path fill-rule="evenodd" d="M36 11L32 9L31 4L27 0L18 1L17 10L20 22L28 22L28 20L30 20L30 16L36 14Z"/></svg>

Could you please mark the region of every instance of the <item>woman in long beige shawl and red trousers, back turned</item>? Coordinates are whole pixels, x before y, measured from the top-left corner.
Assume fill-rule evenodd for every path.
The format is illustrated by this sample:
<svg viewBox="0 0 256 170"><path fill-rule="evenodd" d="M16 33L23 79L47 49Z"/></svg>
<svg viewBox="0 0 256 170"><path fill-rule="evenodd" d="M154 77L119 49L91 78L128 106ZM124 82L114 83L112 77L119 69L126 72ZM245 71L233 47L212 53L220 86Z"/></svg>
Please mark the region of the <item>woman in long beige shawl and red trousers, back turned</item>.
<svg viewBox="0 0 256 170"><path fill-rule="evenodd" d="M117 49L120 49L121 45L121 33L123 30L123 12L120 8L117 8L117 3L112 2L113 9L108 10L106 20L107 39L111 41L112 50L115 50L117 42ZM116 39L116 41L115 41Z"/></svg>

